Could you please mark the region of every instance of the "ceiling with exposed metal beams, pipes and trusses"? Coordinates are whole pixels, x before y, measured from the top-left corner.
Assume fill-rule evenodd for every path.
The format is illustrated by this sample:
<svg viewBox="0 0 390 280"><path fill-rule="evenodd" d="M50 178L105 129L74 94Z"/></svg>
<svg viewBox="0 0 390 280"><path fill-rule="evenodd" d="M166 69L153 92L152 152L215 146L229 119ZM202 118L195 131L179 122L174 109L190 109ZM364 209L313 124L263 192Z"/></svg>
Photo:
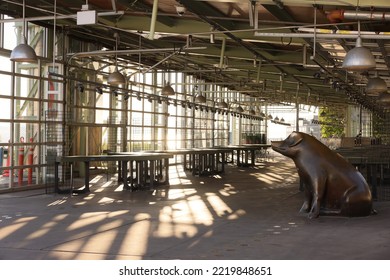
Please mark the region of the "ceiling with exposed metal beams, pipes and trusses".
<svg viewBox="0 0 390 280"><path fill-rule="evenodd" d="M53 25L54 1L26 2L27 20ZM98 22L77 25L87 2ZM21 4L4 0L0 12L21 18ZM58 28L96 49L114 49L118 33L123 65L184 71L270 103L298 98L314 106L387 110L365 87L376 76L390 84L388 0L57 0L56 14ZM347 72L342 62L359 26L376 68Z"/></svg>

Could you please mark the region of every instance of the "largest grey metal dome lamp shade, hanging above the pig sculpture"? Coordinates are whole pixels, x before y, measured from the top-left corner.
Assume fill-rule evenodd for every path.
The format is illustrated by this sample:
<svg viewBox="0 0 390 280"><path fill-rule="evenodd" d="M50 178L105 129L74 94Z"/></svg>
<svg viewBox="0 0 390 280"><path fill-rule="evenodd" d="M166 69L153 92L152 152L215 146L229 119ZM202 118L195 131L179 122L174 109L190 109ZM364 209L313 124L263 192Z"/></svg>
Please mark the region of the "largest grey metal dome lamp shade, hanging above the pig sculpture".
<svg viewBox="0 0 390 280"><path fill-rule="evenodd" d="M342 67L355 72L363 72L376 67L374 56L369 49L362 47L360 37L356 40L356 47L345 56Z"/></svg>

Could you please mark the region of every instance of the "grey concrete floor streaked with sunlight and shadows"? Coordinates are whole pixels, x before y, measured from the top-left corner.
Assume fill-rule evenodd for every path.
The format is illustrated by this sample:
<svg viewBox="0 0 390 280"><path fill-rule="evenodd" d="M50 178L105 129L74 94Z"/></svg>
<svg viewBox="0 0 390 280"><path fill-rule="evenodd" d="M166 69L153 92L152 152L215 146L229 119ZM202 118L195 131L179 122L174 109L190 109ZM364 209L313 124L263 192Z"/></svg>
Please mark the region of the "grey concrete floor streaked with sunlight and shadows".
<svg viewBox="0 0 390 280"><path fill-rule="evenodd" d="M2 194L0 259L390 259L390 201L374 216L309 220L289 159L170 176L155 191L101 175L88 195Z"/></svg>

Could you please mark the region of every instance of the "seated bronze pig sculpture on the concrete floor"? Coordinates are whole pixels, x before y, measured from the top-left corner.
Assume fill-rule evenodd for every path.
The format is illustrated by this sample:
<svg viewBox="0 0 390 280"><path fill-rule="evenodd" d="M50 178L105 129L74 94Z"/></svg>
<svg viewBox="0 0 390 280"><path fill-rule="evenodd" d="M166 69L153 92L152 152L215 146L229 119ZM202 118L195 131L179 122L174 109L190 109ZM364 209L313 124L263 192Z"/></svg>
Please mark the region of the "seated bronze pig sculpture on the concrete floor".
<svg viewBox="0 0 390 280"><path fill-rule="evenodd" d="M292 132L284 141L272 141L271 147L294 161L305 189L300 212L308 212L309 218L320 213L353 217L375 212L362 174L313 136Z"/></svg>

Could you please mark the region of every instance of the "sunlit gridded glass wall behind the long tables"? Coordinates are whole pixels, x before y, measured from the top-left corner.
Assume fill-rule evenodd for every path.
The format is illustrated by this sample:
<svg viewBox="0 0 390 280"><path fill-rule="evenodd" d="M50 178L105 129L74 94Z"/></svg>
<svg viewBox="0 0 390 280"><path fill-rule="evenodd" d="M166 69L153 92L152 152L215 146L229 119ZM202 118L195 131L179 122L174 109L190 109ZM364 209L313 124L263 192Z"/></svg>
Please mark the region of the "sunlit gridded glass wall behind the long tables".
<svg viewBox="0 0 390 280"><path fill-rule="evenodd" d="M13 63L9 54L22 40L21 26L1 24L0 190L52 184L54 160L61 155L240 144L242 124L254 124L253 133L263 129L258 118L236 114L236 92L185 73L157 68L145 73L140 65L119 58L127 83L110 86L107 77L115 67L110 57L75 55L66 64L56 60L62 50L101 47L64 40L63 34L56 34L53 44L52 30L31 23L28 42L39 60ZM166 82L174 96L161 95ZM195 100L199 90L205 103ZM229 107L219 108L221 100ZM63 173L60 169L60 176Z"/></svg>

